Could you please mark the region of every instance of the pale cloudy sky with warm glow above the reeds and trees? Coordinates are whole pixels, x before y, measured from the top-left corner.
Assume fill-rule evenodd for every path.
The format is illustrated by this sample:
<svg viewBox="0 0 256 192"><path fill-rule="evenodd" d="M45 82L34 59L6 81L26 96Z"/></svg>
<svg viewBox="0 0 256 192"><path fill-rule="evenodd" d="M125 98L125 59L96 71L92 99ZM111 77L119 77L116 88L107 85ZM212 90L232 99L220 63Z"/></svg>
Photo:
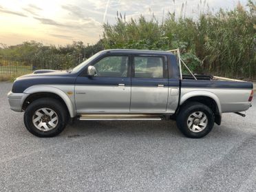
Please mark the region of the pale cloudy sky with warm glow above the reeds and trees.
<svg viewBox="0 0 256 192"><path fill-rule="evenodd" d="M204 3L205 2L205 3ZM114 24L116 13L126 20L140 14L158 21L168 12L196 19L198 12L235 8L237 0L0 0L0 43L17 45L38 41L45 45L66 45L72 41L96 43L103 35L103 23ZM247 0L239 1L245 6ZM209 6L209 8L208 8Z"/></svg>

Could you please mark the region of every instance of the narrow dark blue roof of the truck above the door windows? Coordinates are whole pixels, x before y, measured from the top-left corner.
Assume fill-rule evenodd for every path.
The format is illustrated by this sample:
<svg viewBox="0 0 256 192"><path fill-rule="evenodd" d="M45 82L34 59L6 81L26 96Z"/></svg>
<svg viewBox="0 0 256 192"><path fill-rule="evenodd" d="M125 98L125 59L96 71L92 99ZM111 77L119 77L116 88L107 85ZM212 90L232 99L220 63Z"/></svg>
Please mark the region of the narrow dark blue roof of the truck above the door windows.
<svg viewBox="0 0 256 192"><path fill-rule="evenodd" d="M126 50L126 49L103 50L102 52L129 53L129 54L172 54L171 52L167 52L167 51L157 51L157 50Z"/></svg>

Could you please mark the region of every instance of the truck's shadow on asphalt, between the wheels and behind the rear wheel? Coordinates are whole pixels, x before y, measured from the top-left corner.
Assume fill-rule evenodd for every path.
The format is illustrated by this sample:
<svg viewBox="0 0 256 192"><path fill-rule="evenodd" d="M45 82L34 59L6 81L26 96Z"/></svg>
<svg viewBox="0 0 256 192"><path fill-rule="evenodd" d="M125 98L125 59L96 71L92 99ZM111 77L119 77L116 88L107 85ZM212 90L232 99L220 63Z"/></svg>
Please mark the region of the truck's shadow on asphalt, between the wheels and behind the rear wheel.
<svg viewBox="0 0 256 192"><path fill-rule="evenodd" d="M151 137L169 137L186 138L179 131L174 120L161 121L76 121L73 125L67 125L66 129L60 135L66 138L79 138L92 134L102 134L103 136L151 136ZM243 129L233 129L225 125L214 125L212 131L201 139L222 140L246 135ZM186 138L189 139L189 138Z"/></svg>

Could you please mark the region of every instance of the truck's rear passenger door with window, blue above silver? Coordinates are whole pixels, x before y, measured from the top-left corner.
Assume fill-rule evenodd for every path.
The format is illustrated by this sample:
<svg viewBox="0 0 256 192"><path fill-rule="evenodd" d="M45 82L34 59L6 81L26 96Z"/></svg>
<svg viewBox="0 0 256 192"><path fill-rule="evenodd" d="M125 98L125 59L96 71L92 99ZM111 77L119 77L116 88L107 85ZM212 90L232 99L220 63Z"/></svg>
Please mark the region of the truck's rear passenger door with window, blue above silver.
<svg viewBox="0 0 256 192"><path fill-rule="evenodd" d="M134 55L132 59L130 111L165 112L168 99L167 58Z"/></svg>

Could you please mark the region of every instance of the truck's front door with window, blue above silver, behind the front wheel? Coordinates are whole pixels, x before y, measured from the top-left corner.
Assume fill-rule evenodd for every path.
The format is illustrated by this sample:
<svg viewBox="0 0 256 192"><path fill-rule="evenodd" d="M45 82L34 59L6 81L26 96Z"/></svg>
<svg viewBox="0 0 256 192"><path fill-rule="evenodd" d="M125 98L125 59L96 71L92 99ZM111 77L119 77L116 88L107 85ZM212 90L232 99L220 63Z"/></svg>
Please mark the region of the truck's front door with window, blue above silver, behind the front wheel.
<svg viewBox="0 0 256 192"><path fill-rule="evenodd" d="M107 55L92 63L96 76L78 76L75 86L78 113L129 111L129 56Z"/></svg>

